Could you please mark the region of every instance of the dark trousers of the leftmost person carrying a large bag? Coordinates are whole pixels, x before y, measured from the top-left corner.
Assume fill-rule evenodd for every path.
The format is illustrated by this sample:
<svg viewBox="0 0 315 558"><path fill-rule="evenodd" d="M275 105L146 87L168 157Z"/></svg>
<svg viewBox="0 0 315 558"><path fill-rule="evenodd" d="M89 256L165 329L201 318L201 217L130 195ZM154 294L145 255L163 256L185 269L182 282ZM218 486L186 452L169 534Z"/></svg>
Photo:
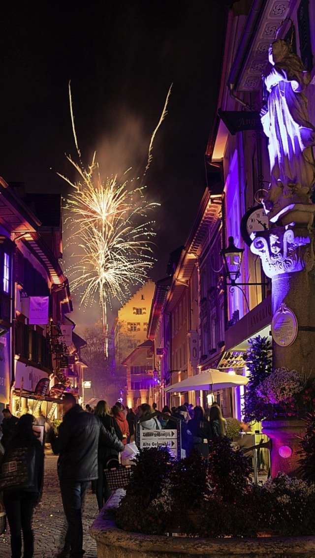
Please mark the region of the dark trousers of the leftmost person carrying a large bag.
<svg viewBox="0 0 315 558"><path fill-rule="evenodd" d="M38 499L37 493L11 491L3 493L11 533L12 558L21 558L22 535L24 541L24 558L32 558L34 554L34 536L32 532L32 516Z"/></svg>

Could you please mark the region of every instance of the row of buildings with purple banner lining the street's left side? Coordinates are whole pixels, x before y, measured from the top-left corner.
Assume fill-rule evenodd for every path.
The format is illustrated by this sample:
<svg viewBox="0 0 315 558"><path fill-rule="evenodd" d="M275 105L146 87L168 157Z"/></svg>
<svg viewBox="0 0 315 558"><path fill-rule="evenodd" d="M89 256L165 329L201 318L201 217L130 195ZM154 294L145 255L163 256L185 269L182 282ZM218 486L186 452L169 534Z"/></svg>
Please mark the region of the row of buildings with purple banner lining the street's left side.
<svg viewBox="0 0 315 558"><path fill-rule="evenodd" d="M63 391L79 401L69 283L62 256L61 198L25 194L0 179L0 405L13 414L58 414ZM49 208L49 210L47 210ZM72 352L70 347L73 348Z"/></svg>

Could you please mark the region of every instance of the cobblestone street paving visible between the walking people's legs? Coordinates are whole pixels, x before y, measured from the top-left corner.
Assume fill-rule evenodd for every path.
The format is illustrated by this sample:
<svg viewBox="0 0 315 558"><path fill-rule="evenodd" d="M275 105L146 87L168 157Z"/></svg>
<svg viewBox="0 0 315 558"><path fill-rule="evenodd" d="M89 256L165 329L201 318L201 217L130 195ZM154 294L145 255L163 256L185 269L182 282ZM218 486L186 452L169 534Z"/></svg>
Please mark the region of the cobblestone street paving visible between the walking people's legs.
<svg viewBox="0 0 315 558"><path fill-rule="evenodd" d="M44 491L41 502L35 509L33 518L35 537L34 558L52 558L63 547L66 521L61 503L56 469L57 457L47 453L45 457ZM97 558L96 541L88 534L88 529L92 525L97 513L96 496L89 489L82 514L84 558ZM8 525L7 531L0 537L0 557L11 557Z"/></svg>

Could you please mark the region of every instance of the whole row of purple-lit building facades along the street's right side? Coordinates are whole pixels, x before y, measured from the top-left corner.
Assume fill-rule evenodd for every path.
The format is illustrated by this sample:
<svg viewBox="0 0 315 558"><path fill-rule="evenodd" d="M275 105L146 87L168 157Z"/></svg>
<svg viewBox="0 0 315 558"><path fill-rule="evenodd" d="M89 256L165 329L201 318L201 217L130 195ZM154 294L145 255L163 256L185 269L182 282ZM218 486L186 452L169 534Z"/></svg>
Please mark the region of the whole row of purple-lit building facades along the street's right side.
<svg viewBox="0 0 315 558"><path fill-rule="evenodd" d="M311 76L305 94L309 121L315 122L315 4L306 0L282 3L253 0L249 4L235 2L228 11L218 113L206 152L209 170L216 170L219 180L216 189L209 182L198 213L192 216L192 230L169 273L170 286L164 292L163 304L160 304L158 284L152 303L148 336L155 344L156 365L161 376L155 398L161 404L177 405L183 401L207 404L209 393L169 395L167 387L211 367L246 374L242 355L248 339L260 334L271 341L271 278L264 272L266 268L258 253L250 249L250 235L268 231L269 219L261 202L264 198L268 202L266 192L272 182L269 157L272 147L269 143L268 148L264 133L267 117L263 119L264 128L260 118L261 109L268 105L271 78L263 82L261 75L269 75L272 70L268 52L279 27L281 39L290 41L290 36L287 37L290 22L283 26L281 22L291 18L295 28L292 47ZM293 104L288 107L288 118L292 107ZM273 152L276 160L275 148ZM293 169L291 155L288 152L285 164ZM271 198L272 202L274 193ZM209 214L210 206L218 208L217 212ZM231 236L237 247L245 249L237 282L254 285L229 288L227 284L219 252ZM273 249L278 249L276 240ZM187 320L182 318L179 324L178 317L183 316L180 305L184 300ZM183 343L184 331L187 344ZM214 393L225 416L242 418L243 389Z"/></svg>

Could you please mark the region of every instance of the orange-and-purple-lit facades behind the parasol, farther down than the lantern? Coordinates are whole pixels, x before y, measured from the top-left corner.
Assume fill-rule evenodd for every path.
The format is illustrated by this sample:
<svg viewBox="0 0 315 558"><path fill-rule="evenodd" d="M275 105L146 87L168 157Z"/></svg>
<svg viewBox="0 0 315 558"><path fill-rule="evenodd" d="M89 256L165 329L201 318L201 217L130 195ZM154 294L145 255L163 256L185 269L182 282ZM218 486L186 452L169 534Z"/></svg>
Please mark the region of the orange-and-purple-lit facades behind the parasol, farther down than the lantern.
<svg viewBox="0 0 315 558"><path fill-rule="evenodd" d="M216 177L217 178L217 177ZM160 383L155 399L178 406L184 402L205 408L219 402L225 416L235 405L231 388L171 392L186 378L218 368L225 345L225 293L222 263L222 195L214 180L207 188L185 246L168 269L171 275L156 283L148 336L154 341ZM172 254L174 256L174 254Z"/></svg>

